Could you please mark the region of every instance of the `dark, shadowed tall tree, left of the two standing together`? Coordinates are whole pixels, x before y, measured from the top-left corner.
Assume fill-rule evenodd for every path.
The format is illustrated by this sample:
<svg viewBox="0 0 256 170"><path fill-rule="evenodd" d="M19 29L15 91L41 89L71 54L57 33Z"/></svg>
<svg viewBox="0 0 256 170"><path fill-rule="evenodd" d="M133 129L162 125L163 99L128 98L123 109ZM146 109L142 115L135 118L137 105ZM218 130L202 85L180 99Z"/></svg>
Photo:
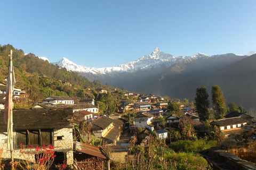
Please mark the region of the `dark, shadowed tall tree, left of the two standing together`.
<svg viewBox="0 0 256 170"><path fill-rule="evenodd" d="M203 121L203 122L206 122L206 120L209 120L208 108L210 105L210 101L208 97L209 95L207 94L205 86L199 87L196 89L196 97L195 97L196 112L200 117L200 121Z"/></svg>

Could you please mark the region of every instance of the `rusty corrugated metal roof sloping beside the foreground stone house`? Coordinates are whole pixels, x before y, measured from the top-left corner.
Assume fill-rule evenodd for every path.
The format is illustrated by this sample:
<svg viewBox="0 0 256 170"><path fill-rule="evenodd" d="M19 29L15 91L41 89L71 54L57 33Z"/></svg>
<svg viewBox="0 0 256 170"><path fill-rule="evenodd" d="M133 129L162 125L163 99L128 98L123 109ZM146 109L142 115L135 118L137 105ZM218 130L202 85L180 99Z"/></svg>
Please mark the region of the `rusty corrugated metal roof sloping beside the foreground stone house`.
<svg viewBox="0 0 256 170"><path fill-rule="evenodd" d="M99 147L95 147L95 146L77 142L77 141L76 141L76 151L83 152L84 154L107 159L107 157L102 154Z"/></svg>

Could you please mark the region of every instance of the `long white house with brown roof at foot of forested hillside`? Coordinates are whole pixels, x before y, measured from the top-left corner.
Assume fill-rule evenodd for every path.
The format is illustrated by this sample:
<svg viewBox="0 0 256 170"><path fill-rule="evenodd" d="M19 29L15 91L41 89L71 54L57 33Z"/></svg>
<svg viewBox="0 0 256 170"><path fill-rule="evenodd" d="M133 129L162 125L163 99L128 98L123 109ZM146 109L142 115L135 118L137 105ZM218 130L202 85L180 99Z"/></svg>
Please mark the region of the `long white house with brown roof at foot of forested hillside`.
<svg viewBox="0 0 256 170"><path fill-rule="evenodd" d="M43 100L42 104L74 104L74 100L65 96L49 96Z"/></svg>

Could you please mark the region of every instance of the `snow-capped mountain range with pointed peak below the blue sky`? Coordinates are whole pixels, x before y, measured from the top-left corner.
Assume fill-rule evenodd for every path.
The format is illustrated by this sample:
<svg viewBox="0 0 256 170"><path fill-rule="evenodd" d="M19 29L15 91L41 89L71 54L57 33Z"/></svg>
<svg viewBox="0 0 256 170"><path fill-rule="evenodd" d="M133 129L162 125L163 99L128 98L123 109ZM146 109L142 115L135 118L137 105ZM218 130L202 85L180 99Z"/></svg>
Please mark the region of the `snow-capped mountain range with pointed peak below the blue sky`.
<svg viewBox="0 0 256 170"><path fill-rule="evenodd" d="M60 67L65 67L68 71L77 71L81 73L92 73L96 75L102 75L107 73L115 73L115 72L135 72L138 70L147 70L153 69L161 66L171 66L177 62L191 62L193 60L197 60L198 58L208 58L211 57L206 54L197 53L193 56L173 56L171 54L167 54L161 52L159 48L155 48L150 55L145 55L139 58L136 61L129 62L126 64L118 65L117 67L84 67L81 65L77 65L67 58L62 58L59 62L53 63L57 64Z"/></svg>

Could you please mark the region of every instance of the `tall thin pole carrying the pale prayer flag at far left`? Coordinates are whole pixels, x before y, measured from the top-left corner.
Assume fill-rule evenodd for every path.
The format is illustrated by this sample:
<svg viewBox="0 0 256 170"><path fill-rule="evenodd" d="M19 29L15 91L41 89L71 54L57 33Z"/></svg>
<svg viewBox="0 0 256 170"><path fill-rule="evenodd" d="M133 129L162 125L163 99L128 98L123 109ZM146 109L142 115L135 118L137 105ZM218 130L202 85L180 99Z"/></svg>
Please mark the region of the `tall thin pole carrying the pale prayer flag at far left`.
<svg viewBox="0 0 256 170"><path fill-rule="evenodd" d="M13 120L12 120L12 108L13 108L13 101L12 101L12 95L13 95L13 82L12 82L12 79L13 79L13 64L12 64L12 49L11 49L11 55L10 55L10 67L11 67L11 72L10 72L10 88L11 88L11 112L10 112L10 131L11 131L11 159L12 159L12 162L13 162L13 156L12 156L12 151L13 151Z"/></svg>

